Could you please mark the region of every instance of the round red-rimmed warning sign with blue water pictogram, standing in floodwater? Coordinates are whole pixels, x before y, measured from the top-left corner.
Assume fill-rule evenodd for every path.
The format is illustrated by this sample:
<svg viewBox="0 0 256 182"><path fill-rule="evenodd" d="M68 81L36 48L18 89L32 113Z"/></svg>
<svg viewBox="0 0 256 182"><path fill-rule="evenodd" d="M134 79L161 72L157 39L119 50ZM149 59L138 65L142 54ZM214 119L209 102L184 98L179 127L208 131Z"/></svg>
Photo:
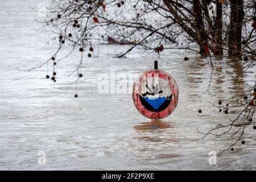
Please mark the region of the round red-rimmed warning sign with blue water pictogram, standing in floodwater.
<svg viewBox="0 0 256 182"><path fill-rule="evenodd" d="M177 106L179 89L168 73L151 69L137 78L133 85L133 102L139 113L150 119L170 115Z"/></svg>

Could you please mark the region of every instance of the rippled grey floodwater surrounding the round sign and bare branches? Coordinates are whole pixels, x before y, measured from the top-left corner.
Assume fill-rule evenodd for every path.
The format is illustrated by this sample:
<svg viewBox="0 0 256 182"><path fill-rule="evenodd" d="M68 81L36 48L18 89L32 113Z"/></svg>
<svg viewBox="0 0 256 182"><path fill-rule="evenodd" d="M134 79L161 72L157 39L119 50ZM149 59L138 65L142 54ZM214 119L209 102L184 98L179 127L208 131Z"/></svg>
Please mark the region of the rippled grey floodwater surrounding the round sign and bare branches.
<svg viewBox="0 0 256 182"><path fill-rule="evenodd" d="M249 88L254 70L242 72L239 61L213 60L210 95L201 98L199 114L199 96L207 90L211 72L208 59L167 50L161 57L148 56L139 49L128 59L113 59L108 53L122 47L100 46L98 58L96 52L94 58L85 58L79 97L74 98L76 74L68 75L79 64L79 52L57 64L56 83L45 78L46 65L19 71L44 63L56 49L47 44L52 34L38 31L40 24L30 7L37 5L32 0L0 2L0 169L256 169L251 127L246 130L246 144L219 156L217 165L208 163L208 153L228 147L230 135L185 139L201 137L197 129L206 132L228 122L232 115L219 113L209 102ZM184 61L184 56L190 59ZM135 109L131 93L97 92L98 74L110 75L111 69L116 75L141 74L153 67L155 59L179 85L179 104L170 117L150 121ZM38 164L39 151L46 152L46 165Z"/></svg>

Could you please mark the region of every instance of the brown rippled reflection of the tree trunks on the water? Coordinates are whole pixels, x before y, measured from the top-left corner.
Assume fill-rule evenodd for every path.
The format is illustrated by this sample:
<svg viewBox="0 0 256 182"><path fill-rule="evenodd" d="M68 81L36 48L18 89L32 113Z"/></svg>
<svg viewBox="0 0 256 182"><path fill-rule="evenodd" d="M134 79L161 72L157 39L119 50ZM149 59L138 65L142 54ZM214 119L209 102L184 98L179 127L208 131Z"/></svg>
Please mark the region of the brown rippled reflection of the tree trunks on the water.
<svg viewBox="0 0 256 182"><path fill-rule="evenodd" d="M187 64L187 78L191 88L200 84L209 84L212 67L209 64L210 58L199 58ZM226 92L241 93L245 90L246 73L242 70L240 59L226 59L218 56L212 57L214 71L212 76L211 91L218 93ZM228 66L228 67L227 67Z"/></svg>

